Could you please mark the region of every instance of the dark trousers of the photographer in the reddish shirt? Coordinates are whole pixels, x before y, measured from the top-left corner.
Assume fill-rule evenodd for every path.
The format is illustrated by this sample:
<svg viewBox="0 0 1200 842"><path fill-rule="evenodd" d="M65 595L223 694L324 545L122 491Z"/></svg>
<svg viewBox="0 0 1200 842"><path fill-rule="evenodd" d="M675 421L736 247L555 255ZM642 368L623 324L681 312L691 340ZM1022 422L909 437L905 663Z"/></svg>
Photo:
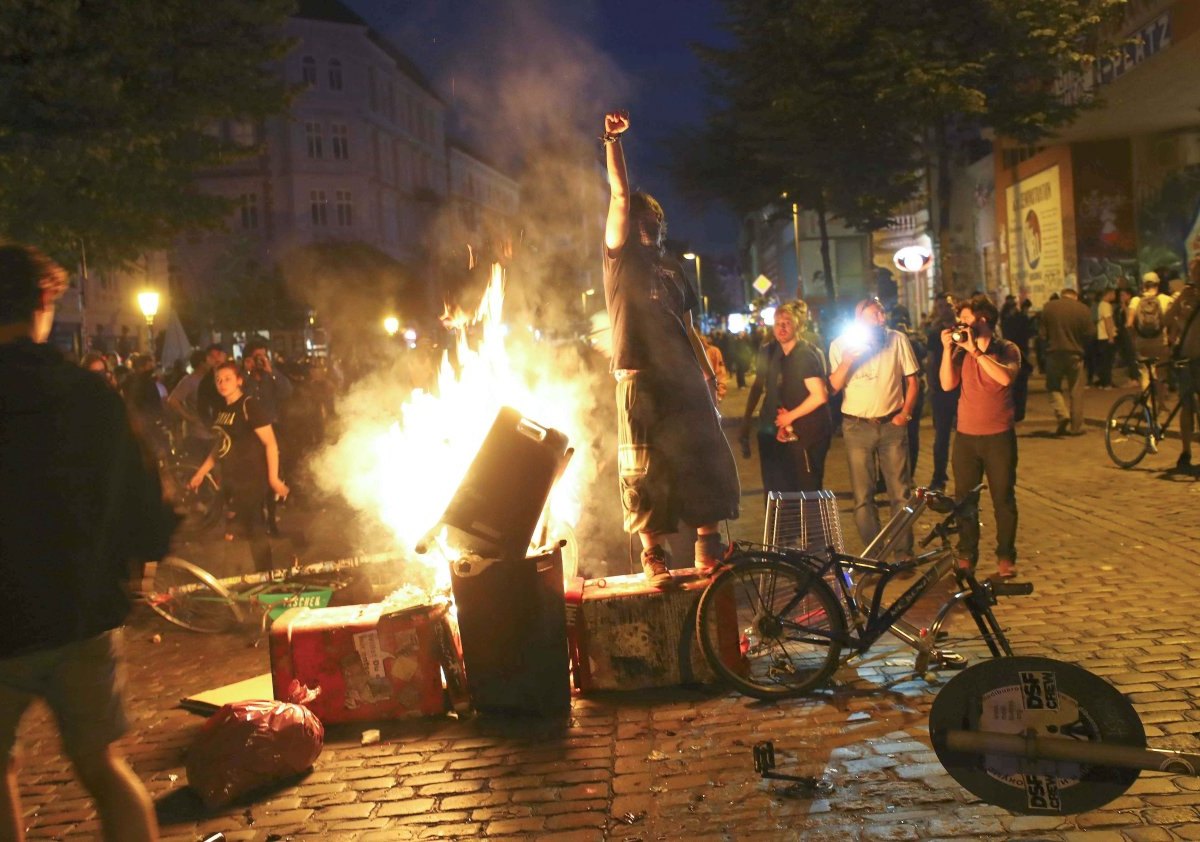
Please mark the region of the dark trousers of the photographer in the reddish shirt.
<svg viewBox="0 0 1200 842"><path fill-rule="evenodd" d="M959 433L954 438L954 495L962 500L988 477L996 516L996 558L1016 561L1016 431L992 435ZM979 560L979 507L959 518L959 557Z"/></svg>

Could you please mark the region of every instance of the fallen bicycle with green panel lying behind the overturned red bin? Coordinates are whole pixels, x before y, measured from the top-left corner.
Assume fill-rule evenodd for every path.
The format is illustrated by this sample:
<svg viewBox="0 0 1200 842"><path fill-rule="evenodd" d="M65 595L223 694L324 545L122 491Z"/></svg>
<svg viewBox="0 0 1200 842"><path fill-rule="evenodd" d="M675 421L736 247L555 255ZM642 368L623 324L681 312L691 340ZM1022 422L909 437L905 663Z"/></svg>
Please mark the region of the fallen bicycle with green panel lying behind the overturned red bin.
<svg viewBox="0 0 1200 842"><path fill-rule="evenodd" d="M288 608L328 606L334 593L350 583L347 571L395 559L395 553L374 553L217 578L199 565L168 557L146 570L149 588L142 599L164 620L190 631L226 632L254 614L265 629Z"/></svg>

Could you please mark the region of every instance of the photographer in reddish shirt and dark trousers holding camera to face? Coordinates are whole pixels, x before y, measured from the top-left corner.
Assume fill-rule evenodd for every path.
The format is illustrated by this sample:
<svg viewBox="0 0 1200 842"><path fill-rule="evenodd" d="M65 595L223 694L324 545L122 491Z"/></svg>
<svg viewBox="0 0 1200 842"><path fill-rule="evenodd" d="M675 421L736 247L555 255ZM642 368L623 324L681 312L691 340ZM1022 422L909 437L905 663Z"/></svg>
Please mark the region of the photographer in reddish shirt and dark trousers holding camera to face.
<svg viewBox="0 0 1200 842"><path fill-rule="evenodd" d="M996 516L996 573L1016 576L1016 429L1013 383L1021 351L995 335L1000 313L983 295L959 305L959 324L942 331L942 389L961 386L958 434L950 457L954 494L962 500L988 477ZM978 505L978 504L977 504ZM979 560L977 505L960 518L959 566L974 570Z"/></svg>

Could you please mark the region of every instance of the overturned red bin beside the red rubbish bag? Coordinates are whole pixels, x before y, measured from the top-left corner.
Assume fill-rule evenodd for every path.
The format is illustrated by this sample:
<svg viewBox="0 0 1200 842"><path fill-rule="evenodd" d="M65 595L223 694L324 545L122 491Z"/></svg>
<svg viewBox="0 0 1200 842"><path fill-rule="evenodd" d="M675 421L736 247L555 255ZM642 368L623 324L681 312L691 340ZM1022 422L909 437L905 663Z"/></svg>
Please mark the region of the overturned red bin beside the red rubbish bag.
<svg viewBox="0 0 1200 842"><path fill-rule="evenodd" d="M457 656L445 602L292 608L270 650L275 698L293 680L319 686L308 708L323 722L444 714L443 660Z"/></svg>

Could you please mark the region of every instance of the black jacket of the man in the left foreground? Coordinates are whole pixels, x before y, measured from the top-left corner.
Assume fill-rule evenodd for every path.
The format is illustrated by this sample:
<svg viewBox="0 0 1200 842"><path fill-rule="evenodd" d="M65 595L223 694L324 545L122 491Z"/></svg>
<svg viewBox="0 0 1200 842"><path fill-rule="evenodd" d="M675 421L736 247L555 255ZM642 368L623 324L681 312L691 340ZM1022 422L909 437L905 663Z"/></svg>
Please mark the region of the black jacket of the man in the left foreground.
<svg viewBox="0 0 1200 842"><path fill-rule="evenodd" d="M0 658L119 626L127 563L162 558L174 524L116 392L48 345L0 345Z"/></svg>

